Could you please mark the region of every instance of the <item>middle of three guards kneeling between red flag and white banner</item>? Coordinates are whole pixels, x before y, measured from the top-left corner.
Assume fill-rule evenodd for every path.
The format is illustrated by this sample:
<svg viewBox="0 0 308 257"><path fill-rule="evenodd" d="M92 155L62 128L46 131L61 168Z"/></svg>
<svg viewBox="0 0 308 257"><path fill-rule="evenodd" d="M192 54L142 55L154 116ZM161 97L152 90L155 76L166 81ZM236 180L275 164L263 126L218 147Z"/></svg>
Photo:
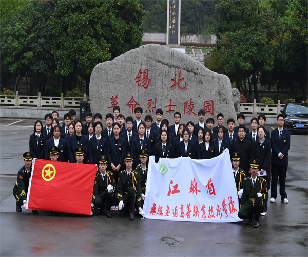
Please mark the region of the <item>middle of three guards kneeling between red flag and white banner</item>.
<svg viewBox="0 0 308 257"><path fill-rule="evenodd" d="M140 176L132 170L133 159L132 153L124 154L126 170L120 172L117 185L118 208L120 211L125 210L125 215L129 215L130 221L134 220L133 212L136 196L139 214L144 214L141 208Z"/></svg>

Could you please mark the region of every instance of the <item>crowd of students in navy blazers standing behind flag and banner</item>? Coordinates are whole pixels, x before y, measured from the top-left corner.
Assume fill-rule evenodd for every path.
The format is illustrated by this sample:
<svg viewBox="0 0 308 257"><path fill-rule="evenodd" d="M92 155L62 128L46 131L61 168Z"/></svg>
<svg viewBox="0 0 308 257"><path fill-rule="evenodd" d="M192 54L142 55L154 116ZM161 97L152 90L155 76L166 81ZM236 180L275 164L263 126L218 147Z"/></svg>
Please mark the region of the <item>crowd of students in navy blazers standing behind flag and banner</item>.
<svg viewBox="0 0 308 257"><path fill-rule="evenodd" d="M271 202L273 199L275 201L278 176L280 183L283 180L280 178L281 172L284 174L285 182L286 169L281 169L280 166L287 167L287 151L290 148L290 133L283 129L283 115L278 115L277 118L280 132L279 140L282 130L283 138L285 137L286 139L280 145L280 141L275 142L277 139L274 138L273 132L272 142L269 131L265 129L266 117L264 114L251 119L252 131L249 132L248 128L243 125L244 114L237 115L238 126L235 126L234 119L229 118L226 122L227 127L224 127L223 114L219 113L217 115L217 125L215 126L213 118L208 118L205 121L205 111L203 109L198 112L199 121L197 124L192 121L186 124L181 123L181 113L175 112L174 125L170 126L169 121L163 119L162 109L156 110L155 122L153 122L151 115L146 115L144 121L141 119L143 113L141 107L136 107L134 113L136 119L131 116L125 119L124 115L120 114L120 108L114 107L113 114L108 113L106 115L107 127L103 129L102 115L99 113L92 116L92 113L87 112L86 123L83 124L82 121L75 120L76 112L70 110L64 115L64 124L61 127L59 115L54 111L52 114L46 114L46 125L44 127L40 120L35 122L34 133L30 136L29 152L33 154L33 158L51 160L50 150L55 146L59 152L57 161L97 164L98 167L100 167L100 160L104 156L105 160L108 159L105 170L112 173L114 181L118 181L121 172L127 171L125 160L127 153L130 155L131 169L134 171L142 165L142 158L140 158L140 151L142 150L146 150L147 156L154 155L155 161L158 162L160 158L177 157L210 159L220 155L225 149L229 149L230 155L236 153L241 156L238 167L232 161L235 179L239 170L243 171L241 174L245 174L247 177L251 175L250 162L254 159L260 163L258 166L259 176L263 176L269 189L271 182L270 165L271 163L274 164L275 178L274 181L272 178L272 187L274 186L274 188L271 190ZM283 122L281 122L282 119ZM271 142L269 142L270 138ZM271 148L275 155L271 156ZM82 160L76 155L78 149L79 151L80 149L82 150ZM286 157L282 163L283 156ZM101 172L100 168L98 172ZM111 175L109 174L109 176ZM110 178L110 180L112 181L113 179ZM244 178L241 179L240 187L237 185L238 191L242 189L243 180ZM115 188L115 186L112 185L112 188ZM282 187L280 185L280 194L282 201L287 203L285 186L283 189L283 185ZM137 196L137 198L139 200L140 197ZM119 206L114 201L113 204L110 209L117 210ZM262 215L267 213L267 199L264 199L264 206L265 209L263 209ZM107 216L111 216L110 212L107 212Z"/></svg>

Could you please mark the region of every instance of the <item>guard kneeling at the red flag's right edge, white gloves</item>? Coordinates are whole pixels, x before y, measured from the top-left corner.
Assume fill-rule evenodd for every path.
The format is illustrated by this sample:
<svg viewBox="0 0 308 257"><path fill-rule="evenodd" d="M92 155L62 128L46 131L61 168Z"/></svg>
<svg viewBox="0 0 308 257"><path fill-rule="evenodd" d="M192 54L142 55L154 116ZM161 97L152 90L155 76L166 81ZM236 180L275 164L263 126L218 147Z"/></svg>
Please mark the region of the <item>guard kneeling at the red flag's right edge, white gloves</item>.
<svg viewBox="0 0 308 257"><path fill-rule="evenodd" d="M108 157L101 155L98 157L99 171L94 180L94 188L92 195L92 207L100 207L100 214L104 214L104 203L106 203L107 218L112 218L110 214L111 200L115 192L115 179L113 172L106 171L108 166Z"/></svg>

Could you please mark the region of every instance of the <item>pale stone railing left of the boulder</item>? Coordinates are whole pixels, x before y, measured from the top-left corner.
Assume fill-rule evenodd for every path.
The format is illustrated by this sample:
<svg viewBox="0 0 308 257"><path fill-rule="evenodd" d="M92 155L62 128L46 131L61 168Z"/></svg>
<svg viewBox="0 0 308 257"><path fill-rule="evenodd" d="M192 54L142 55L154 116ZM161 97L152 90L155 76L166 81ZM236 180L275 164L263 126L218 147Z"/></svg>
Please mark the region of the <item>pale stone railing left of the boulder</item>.
<svg viewBox="0 0 308 257"><path fill-rule="evenodd" d="M63 93L61 97L46 97L41 96L18 96L18 91L15 96L0 95L0 106L15 106L15 107L52 107L56 108L79 108L80 101L88 101L86 94L84 97L64 97Z"/></svg>

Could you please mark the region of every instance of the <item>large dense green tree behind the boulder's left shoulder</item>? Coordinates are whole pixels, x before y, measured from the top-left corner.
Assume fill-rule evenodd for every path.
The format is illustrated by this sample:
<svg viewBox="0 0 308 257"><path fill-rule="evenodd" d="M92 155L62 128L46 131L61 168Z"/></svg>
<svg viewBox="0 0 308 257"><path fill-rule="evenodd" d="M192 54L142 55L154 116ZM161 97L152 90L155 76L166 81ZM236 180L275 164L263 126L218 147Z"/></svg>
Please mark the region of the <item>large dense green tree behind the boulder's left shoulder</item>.
<svg viewBox="0 0 308 257"><path fill-rule="evenodd" d="M141 45L145 14L138 0L57 1L49 20L56 73L82 75L89 94L95 65Z"/></svg>

